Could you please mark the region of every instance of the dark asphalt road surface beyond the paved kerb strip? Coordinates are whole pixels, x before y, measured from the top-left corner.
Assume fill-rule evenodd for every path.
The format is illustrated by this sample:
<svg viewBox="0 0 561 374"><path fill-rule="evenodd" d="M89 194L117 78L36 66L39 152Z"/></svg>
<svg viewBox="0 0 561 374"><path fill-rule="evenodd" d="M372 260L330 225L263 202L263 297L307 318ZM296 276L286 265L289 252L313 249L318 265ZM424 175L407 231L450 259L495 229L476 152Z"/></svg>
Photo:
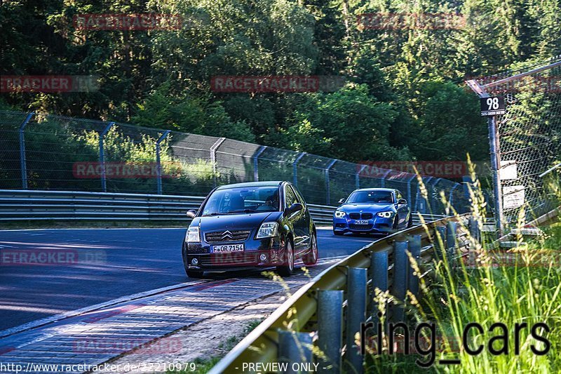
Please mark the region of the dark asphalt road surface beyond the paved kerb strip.
<svg viewBox="0 0 561 374"><path fill-rule="evenodd" d="M0 231L0 255L40 250L48 262L22 266L2 259L0 330L189 281L181 258L184 236L185 229ZM349 255L376 239L318 229L320 259Z"/></svg>

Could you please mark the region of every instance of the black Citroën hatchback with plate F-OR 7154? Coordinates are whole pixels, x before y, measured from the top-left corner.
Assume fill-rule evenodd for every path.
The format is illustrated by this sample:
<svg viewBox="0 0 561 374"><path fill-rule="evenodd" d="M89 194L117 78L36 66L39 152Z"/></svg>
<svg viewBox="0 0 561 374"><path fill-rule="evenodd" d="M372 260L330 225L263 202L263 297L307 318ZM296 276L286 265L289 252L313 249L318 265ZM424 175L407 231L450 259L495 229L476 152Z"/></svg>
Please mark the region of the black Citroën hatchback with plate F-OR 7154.
<svg viewBox="0 0 561 374"><path fill-rule="evenodd" d="M294 271L295 260L318 260L316 226L302 194L289 182L224 185L210 192L182 246L189 277L203 272L276 267Z"/></svg>

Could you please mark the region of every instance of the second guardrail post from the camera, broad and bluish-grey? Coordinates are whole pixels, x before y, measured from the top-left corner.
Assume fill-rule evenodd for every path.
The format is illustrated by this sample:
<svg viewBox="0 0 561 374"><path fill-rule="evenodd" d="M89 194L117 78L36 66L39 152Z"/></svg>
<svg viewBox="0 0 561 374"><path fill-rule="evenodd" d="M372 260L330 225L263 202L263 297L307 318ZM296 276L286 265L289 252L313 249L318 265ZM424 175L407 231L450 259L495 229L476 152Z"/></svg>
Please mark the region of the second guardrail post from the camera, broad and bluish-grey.
<svg viewBox="0 0 561 374"><path fill-rule="evenodd" d="M342 290L320 290L318 293L318 348L325 356L325 361L318 365L318 373L341 373Z"/></svg>

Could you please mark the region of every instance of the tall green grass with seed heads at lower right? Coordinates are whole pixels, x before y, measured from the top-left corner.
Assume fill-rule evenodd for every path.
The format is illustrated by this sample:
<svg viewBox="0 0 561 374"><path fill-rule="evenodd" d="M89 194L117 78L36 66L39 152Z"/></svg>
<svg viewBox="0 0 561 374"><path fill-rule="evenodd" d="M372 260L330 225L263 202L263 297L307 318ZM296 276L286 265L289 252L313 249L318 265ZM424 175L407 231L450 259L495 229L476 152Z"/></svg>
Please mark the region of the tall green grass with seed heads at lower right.
<svg viewBox="0 0 561 374"><path fill-rule="evenodd" d="M479 186L476 184L470 193L472 214L484 217L486 206ZM454 213L453 208L449 208ZM524 216L522 209L520 218ZM522 222L520 220L519 229ZM466 227L464 229L467 231ZM437 327L437 357L429 371L561 372L561 223L551 225L543 232L543 236L529 241L518 236L518 246L509 251L495 251L489 241L478 243L470 237L470 256L468 253L463 255L464 260L472 258L473 263L466 264L464 260L453 260L440 253L428 265L431 276L419 279L421 295L416 298L409 293L406 307L412 328L421 322L432 322ZM442 241L438 234L433 239ZM419 264L412 258L410 260L417 276L427 270L419 269ZM479 333L472 328L466 334L466 342L472 351L482 345L482 351L476 355L468 354L462 342L468 323L478 323L483 329ZM503 323L504 327L495 325L492 328L494 323ZM546 354L534 353L534 350L547 350L546 345L531 333L536 323L547 326L537 327L534 331L534 335L550 342ZM518 328L518 342L517 326L526 326ZM494 338L501 335L508 336L508 341ZM493 354L492 349L501 353ZM381 354L376 353L367 358L368 373L427 371L414 363L415 359L426 361L417 352L389 355L382 350ZM459 359L460 362L440 365L439 359Z"/></svg>

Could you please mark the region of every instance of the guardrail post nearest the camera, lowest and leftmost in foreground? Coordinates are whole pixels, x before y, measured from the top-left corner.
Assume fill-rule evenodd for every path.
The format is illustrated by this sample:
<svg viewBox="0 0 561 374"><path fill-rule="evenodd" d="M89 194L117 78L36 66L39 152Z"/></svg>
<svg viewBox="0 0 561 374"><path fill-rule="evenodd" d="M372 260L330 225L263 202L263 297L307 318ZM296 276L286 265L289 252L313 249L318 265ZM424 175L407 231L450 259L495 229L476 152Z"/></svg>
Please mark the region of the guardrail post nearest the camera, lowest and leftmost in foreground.
<svg viewBox="0 0 561 374"><path fill-rule="evenodd" d="M278 330L278 362L288 363L284 373L300 373L294 370L294 363L312 363L313 356L311 348L313 345L313 333L296 333L286 330Z"/></svg>

